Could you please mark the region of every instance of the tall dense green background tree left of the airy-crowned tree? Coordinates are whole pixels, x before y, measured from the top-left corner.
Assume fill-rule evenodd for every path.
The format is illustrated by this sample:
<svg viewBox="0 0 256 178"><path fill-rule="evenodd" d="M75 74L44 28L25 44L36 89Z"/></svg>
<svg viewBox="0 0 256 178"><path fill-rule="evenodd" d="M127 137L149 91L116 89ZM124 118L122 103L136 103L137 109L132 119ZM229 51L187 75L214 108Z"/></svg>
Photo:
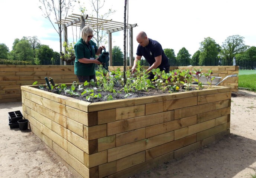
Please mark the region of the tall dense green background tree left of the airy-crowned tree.
<svg viewBox="0 0 256 178"><path fill-rule="evenodd" d="M200 43L199 65L216 65L216 59L220 53L221 47L214 39L207 37Z"/></svg>

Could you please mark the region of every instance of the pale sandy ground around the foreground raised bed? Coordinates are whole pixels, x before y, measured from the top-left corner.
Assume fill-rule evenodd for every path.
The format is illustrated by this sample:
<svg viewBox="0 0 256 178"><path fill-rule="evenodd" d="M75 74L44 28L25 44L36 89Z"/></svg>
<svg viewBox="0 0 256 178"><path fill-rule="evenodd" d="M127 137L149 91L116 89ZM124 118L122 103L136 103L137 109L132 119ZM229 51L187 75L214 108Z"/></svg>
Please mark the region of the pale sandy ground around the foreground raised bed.
<svg viewBox="0 0 256 178"><path fill-rule="evenodd" d="M10 129L8 112L22 103L0 103L0 177L74 178L30 130ZM252 178L256 171L256 93L239 90L231 98L230 135L131 176L132 178Z"/></svg>

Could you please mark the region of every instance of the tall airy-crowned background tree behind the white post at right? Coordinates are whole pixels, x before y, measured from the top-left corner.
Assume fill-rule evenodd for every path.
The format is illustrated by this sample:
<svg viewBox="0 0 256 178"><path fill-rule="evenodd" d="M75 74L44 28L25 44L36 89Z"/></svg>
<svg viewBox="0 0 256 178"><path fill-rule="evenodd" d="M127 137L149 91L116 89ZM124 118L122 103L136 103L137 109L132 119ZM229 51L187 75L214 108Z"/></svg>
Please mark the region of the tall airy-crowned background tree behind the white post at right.
<svg viewBox="0 0 256 178"><path fill-rule="evenodd" d="M248 47L244 44L244 37L239 35L228 36L221 46L221 57L226 65L236 54L246 51Z"/></svg>

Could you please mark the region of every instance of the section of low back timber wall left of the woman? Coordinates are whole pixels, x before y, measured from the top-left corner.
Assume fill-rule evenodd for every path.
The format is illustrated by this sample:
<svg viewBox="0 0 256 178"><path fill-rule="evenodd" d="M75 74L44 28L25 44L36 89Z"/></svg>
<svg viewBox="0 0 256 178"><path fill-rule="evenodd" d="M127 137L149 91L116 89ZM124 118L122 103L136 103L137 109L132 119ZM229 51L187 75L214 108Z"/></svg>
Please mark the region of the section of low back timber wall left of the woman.
<svg viewBox="0 0 256 178"><path fill-rule="evenodd" d="M45 77L52 77L55 83L77 81L74 66L0 65L0 103L21 101L20 86L35 81L45 84Z"/></svg>

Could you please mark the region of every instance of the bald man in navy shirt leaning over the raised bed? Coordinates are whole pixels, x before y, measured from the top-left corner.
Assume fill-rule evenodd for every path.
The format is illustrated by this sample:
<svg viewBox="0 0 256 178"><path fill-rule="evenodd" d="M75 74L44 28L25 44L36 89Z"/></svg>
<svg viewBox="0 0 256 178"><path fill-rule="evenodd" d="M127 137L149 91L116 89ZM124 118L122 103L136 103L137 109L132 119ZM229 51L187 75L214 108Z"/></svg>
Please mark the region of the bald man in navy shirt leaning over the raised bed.
<svg viewBox="0 0 256 178"><path fill-rule="evenodd" d="M137 67L137 61L141 60L141 57L144 56L150 67L146 70L146 73L149 72L149 79L153 79L154 75L151 72L152 69L160 68L161 71L169 72L169 59L164 54L164 50L159 42L152 40L147 37L145 32L140 32L136 37L137 42L139 43L137 47L136 57L134 59L134 64L132 66L132 73L134 73L135 68Z"/></svg>

